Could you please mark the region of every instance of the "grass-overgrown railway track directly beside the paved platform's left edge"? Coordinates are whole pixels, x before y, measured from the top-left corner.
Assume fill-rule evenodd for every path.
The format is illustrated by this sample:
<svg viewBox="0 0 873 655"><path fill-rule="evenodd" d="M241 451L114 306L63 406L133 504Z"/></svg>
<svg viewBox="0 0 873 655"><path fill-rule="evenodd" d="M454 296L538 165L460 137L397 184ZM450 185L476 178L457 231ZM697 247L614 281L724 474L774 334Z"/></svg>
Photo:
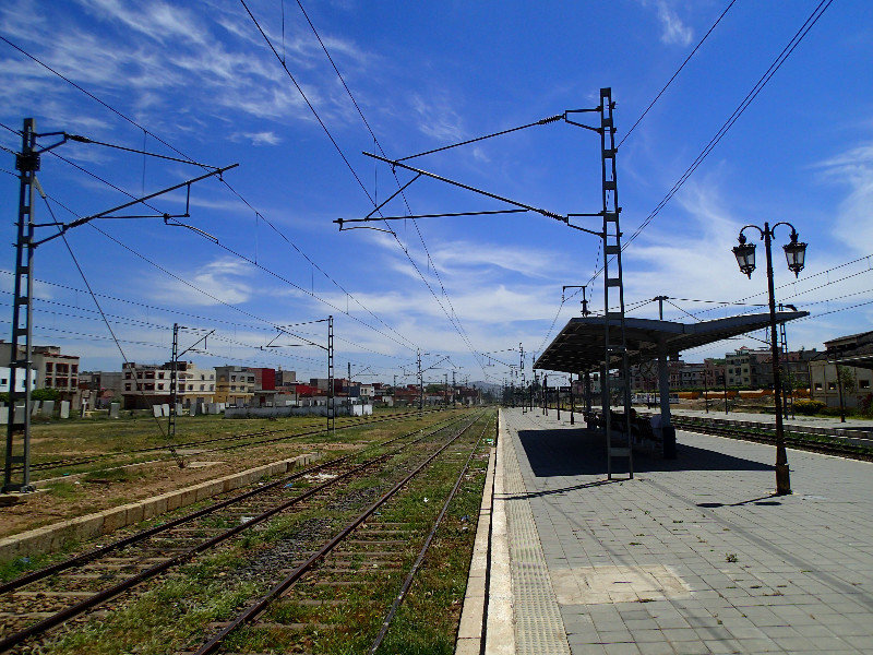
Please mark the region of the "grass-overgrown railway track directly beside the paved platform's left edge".
<svg viewBox="0 0 873 655"><path fill-rule="evenodd" d="M480 430L473 429L476 424L481 426ZM399 479L379 498L350 516L321 545L313 546L309 557L295 561L284 577L258 600L230 621L217 626L217 633L205 643L184 653L308 653L320 650L320 642L330 642L331 632L356 635L357 643L352 638L352 643L345 646L348 652L364 652L362 646L369 644L366 652L375 653L490 425L480 415L423 461L409 462L396 472L395 479ZM475 434L471 448L467 443L463 450L452 450L470 433ZM415 502L428 492L428 473L433 471L434 463L452 460L459 473L442 510L429 521L422 521L420 515L410 516L409 500ZM406 574L402 576L404 571ZM369 617L352 620L350 624L338 622L339 617L358 616L362 596ZM373 599L378 597L393 598L393 603L375 609ZM379 621L381 617L384 619ZM367 628L378 631L362 634Z"/></svg>

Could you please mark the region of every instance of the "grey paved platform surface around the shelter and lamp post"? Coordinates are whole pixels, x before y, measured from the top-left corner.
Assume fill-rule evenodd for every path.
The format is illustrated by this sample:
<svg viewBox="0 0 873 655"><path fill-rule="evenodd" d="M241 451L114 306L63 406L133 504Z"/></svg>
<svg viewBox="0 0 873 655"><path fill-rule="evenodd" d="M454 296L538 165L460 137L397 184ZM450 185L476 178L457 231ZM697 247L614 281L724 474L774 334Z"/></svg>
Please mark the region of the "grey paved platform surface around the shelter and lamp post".
<svg viewBox="0 0 873 655"><path fill-rule="evenodd" d="M514 643L486 653L873 653L873 464L789 450L777 498L772 446L680 431L607 481L566 418L501 412Z"/></svg>

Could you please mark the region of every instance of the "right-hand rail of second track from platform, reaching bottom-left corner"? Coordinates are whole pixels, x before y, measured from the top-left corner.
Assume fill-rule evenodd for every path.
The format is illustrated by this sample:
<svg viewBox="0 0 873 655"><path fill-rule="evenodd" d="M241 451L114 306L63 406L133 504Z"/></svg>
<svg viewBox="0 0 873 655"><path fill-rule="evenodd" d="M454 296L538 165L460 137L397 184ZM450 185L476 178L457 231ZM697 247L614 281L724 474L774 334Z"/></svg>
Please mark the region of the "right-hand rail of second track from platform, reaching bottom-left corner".
<svg viewBox="0 0 873 655"><path fill-rule="evenodd" d="M455 422L459 422L459 421L461 421L461 418L458 418L457 421L455 421ZM416 443L418 441L427 439L428 437L431 437L432 434L434 434L434 433L436 433L436 432L439 432L441 430L444 430L446 427L450 427L450 426L443 426L441 428L438 428L433 432L424 434L423 437L421 437L420 439L418 439L418 440L416 440L416 441L414 441L411 443ZM464 430L466 430L466 429L467 428L464 428ZM459 437L464 432L464 430L462 430L462 432L459 432L457 437ZM412 432L412 433L415 433L415 432ZM455 437L455 439L457 439L457 437ZM399 438L397 438L397 439L399 439ZM442 452L442 450L447 448L447 445L451 444L453 441L454 441L454 439L452 441L450 441L447 444L445 444L440 451L438 451L438 454L439 454L439 452ZM411 445L411 443L407 444L407 445ZM347 471L346 473L343 473L343 474L338 475L335 478L332 478L332 479L330 479L330 480L327 480L327 481L325 481L325 483L323 483L321 485L316 485L315 487L312 487L311 489L308 489L307 491L304 491L300 496L297 496L297 497L295 497L295 498L292 498L292 499L290 499L290 500L288 500L288 501L286 501L284 503L280 503L280 504L278 504L278 505L276 505L274 508L271 508L270 510L259 514L258 516L252 517L250 521L247 521L246 523L241 523L241 524L236 525L236 526L234 526L234 527L231 527L231 528L229 528L229 529L227 529L227 531L225 531L225 532L223 532L223 533L220 533L218 535L215 535L215 536L211 537L210 539L206 539L205 541L202 541L202 543L198 544L196 546L193 546L192 548L186 550L184 552L182 552L180 555L177 555L176 557L172 557L172 558L166 560L166 561L159 562L159 563L155 564L154 567L151 567L151 568L146 569L145 571L141 571L140 573L137 573L137 574L135 574L135 575L133 575L133 576L131 576L131 577L129 577L127 580L123 580L123 581L121 581L121 582L119 582L119 583L117 583L117 584L115 584L115 585L112 585L110 587L107 587L106 590L97 592L93 596L89 596L89 597L87 597L87 598L85 598L85 599L83 599L83 600L81 600L81 602L79 602L79 603L76 603L74 605L71 605L70 607L67 607L67 608L56 612L55 615L52 615L50 617L47 617L47 618L43 619L41 621L38 621L37 623L28 626L27 628L24 628L23 630L20 630L19 632L15 632L14 634L11 634L11 635L0 640L0 652L8 651L8 650L10 650L10 648L12 648L12 647L14 647L16 645L20 645L24 641L26 641L26 640L28 640L31 638L34 638L34 636L36 636L38 634L41 634L41 633L46 632L47 630L50 630L51 628L55 628L56 626L59 626L59 624L72 619L72 618L74 618L74 617L76 617L76 616L79 616L79 615L81 615L81 614L94 608L94 607L97 607L97 606L101 605L103 603L105 603L106 600L109 600L109 599L118 596L119 594L121 594L121 593L123 593L123 592L125 592L128 590L131 590L134 586L137 586L139 584L145 582L146 580L150 580L150 579L152 579L152 577L154 577L154 576L167 571L168 569L171 569L172 567L177 567L179 564L182 564L182 563L187 562L188 560L193 558L195 555L199 555L199 553L201 553L201 552L203 552L205 550L208 550L210 548L213 548L213 547L217 546L218 544L222 544L223 541L225 541L225 540L238 535L242 531L248 529L250 527L253 527L253 526L266 521L267 519L273 517L274 515L278 514L279 512L283 512L283 511L294 507L295 504L298 504L298 503L311 498L312 496L319 493L320 491L323 491L327 487L336 485L337 483L339 483L339 481L342 481L342 480L344 480L344 479L346 479L346 478L348 478L348 477L350 477L352 475L356 475L356 474L360 473L361 471L363 471L366 468L369 468L369 467L371 467L371 466L373 466L375 464L384 462L385 460L387 460L391 456L393 456L394 454L396 454L396 452L399 452L400 450L403 450L403 448L405 448L405 446L402 446L400 449L398 449L394 453L385 453L383 455L379 455L378 457L373 457L372 460L370 460L368 462L364 462L363 464L360 464L360 465ZM280 481L284 481L284 480L280 480ZM261 491L262 489L263 488L259 488L258 491Z"/></svg>

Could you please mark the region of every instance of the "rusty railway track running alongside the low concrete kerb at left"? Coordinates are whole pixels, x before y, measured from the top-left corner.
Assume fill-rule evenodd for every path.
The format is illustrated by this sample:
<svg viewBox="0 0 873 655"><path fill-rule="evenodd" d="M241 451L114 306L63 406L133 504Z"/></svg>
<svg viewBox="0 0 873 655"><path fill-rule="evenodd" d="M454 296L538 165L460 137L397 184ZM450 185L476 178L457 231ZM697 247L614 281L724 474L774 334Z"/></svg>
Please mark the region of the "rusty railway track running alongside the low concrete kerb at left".
<svg viewBox="0 0 873 655"><path fill-rule="evenodd" d="M0 585L0 652L29 652L49 631L133 596L144 583L200 555L249 538L271 519L342 498L351 481L384 473L391 462L422 443L442 440L465 418L450 417L442 425L311 466ZM369 453L367 458L362 452Z"/></svg>

